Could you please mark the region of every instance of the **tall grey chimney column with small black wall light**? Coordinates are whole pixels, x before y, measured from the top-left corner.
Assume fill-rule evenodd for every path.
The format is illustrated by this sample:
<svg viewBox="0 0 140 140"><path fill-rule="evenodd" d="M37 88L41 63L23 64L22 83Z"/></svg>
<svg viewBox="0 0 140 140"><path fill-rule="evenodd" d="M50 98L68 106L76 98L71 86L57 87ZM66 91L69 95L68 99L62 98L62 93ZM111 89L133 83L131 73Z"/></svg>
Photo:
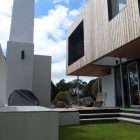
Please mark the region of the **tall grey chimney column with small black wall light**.
<svg viewBox="0 0 140 140"><path fill-rule="evenodd" d="M14 0L6 54L7 100L13 90L32 91L34 4L35 0Z"/></svg>

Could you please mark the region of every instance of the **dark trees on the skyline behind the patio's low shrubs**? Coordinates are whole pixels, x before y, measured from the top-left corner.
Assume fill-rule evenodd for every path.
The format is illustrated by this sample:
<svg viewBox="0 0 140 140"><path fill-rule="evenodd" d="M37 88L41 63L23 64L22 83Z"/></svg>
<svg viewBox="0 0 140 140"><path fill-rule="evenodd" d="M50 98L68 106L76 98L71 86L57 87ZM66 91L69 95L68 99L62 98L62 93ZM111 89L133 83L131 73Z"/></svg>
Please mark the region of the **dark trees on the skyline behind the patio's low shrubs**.
<svg viewBox="0 0 140 140"><path fill-rule="evenodd" d="M54 99L65 99L66 94L69 94L73 96L75 95L75 98L77 98L77 87L79 88L80 97L92 97L93 100L96 99L96 95L98 92L98 79L94 79L89 81L89 83L81 80L81 79L75 79L70 82L66 82L64 79L60 80L56 86L52 83L52 101ZM101 87L100 87L101 88ZM59 96L57 96L59 93ZM64 96L64 98L62 97Z"/></svg>

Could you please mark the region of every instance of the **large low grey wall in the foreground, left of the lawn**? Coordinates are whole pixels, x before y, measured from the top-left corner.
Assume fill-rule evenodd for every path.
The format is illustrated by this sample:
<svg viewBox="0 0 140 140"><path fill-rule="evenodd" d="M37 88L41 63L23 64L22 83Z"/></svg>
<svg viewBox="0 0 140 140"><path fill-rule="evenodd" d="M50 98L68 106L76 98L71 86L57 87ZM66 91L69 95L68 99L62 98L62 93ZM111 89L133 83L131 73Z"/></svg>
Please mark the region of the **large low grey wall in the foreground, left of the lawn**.
<svg viewBox="0 0 140 140"><path fill-rule="evenodd" d="M0 112L2 140L58 140L58 113Z"/></svg>

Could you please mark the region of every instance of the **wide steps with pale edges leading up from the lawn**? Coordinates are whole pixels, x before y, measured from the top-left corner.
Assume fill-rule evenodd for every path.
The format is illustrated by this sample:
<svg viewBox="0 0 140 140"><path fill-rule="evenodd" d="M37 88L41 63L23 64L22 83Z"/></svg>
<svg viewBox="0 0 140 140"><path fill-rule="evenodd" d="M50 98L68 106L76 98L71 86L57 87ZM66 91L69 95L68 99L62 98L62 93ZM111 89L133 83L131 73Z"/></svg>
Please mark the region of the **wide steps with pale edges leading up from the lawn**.
<svg viewBox="0 0 140 140"><path fill-rule="evenodd" d="M102 123L111 121L126 121L140 124L140 110L138 109L88 109L79 110L80 123Z"/></svg>

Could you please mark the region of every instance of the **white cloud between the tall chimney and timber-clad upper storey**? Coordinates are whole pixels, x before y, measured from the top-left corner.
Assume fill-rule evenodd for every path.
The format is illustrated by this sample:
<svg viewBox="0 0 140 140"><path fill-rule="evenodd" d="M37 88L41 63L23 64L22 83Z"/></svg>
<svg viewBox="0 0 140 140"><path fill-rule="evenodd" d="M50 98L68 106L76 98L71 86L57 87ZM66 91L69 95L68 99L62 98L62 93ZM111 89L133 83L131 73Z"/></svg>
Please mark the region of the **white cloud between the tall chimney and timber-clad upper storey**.
<svg viewBox="0 0 140 140"><path fill-rule="evenodd" d="M52 56L52 79L56 83L66 77L66 31L79 13L62 5L55 6L47 16L35 19L35 54Z"/></svg>

